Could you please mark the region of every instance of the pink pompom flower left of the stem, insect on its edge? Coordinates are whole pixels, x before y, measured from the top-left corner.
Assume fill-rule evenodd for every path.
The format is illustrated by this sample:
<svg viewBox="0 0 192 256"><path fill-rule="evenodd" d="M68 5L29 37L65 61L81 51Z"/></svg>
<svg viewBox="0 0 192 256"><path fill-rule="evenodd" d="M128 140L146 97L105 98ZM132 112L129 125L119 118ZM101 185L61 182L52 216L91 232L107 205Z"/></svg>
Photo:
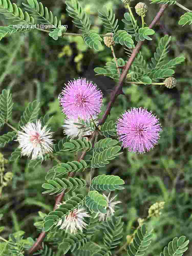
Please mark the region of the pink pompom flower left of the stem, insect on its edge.
<svg viewBox="0 0 192 256"><path fill-rule="evenodd" d="M58 99L68 118L90 119L101 111L102 97L96 84L79 78L68 82Z"/></svg>

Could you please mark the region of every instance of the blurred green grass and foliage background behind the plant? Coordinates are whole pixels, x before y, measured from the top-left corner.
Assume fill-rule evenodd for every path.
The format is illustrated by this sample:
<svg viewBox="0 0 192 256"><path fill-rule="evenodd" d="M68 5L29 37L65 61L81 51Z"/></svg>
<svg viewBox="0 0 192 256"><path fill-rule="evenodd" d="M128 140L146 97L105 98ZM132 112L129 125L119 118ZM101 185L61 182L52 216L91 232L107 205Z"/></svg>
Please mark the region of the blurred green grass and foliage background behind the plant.
<svg viewBox="0 0 192 256"><path fill-rule="evenodd" d="M22 7L22 1L17 5ZM106 33L97 17L97 9L103 3L113 8L116 18L121 20L125 9L121 1L80 1L84 11L90 14L93 29L98 33ZM135 6L139 1L132 1ZM160 5L144 1L148 5L146 23L150 24ZM192 9L190 1L179 1L185 7ZM66 14L64 1L42 1L42 4L52 10L62 24L68 25L68 32L78 33L77 28ZM134 9L133 9L134 12ZM152 36L153 41L147 41L142 47L142 54L149 60L157 47L159 39L164 33L172 36L168 58L185 56L186 61L176 69L176 88L170 90L164 86L129 85L124 86L125 95L120 95L111 111L109 120L116 121L125 109L131 107L145 107L152 110L160 119L162 134L158 145L143 155L124 150L118 158L111 161L104 168L96 169L95 175L113 174L125 181L125 189L119 191L118 199L122 201L120 211L124 221L124 241L138 226L137 218L146 217L148 208L156 201L165 201L165 209L161 217L152 218L149 225L154 228L155 236L147 255L158 255L175 236L186 236L192 239L192 25L181 27L179 17L184 11L171 5L161 18L157 33ZM0 16L1 26L10 24L3 15ZM162 29L162 25L164 29ZM122 27L121 27L122 26ZM123 28L120 23L119 29ZM70 47L64 48L69 45ZM118 58L125 59L125 52L119 45L114 48ZM91 56L91 57L90 57ZM0 41L0 86L1 91L10 89L15 102L13 108L12 125L17 125L20 115L27 104L37 100L41 104L41 114L52 115L51 127L55 132L55 139L62 139L64 115L58 104L58 94L64 83L78 77L86 77L95 82L105 95L103 112L109 101L109 93L114 81L106 77L95 77L93 68L103 67L105 62L112 60L110 49L103 46L103 50L96 52L88 48L80 37L65 37L57 41L46 33L33 30L24 34L13 34ZM102 113L100 114L100 116ZM1 128L1 134L10 131L8 127ZM1 148L5 158L16 148L17 143L9 143ZM72 161L71 155L65 152L60 156L63 161ZM48 214L54 205L54 196L41 194L44 190L47 171L56 164L48 160L35 168L29 167L29 159L23 157L17 162L6 165L7 170L14 174L12 183L3 189L0 200L0 212L4 217L2 237L7 238L11 232L24 230L25 236L37 237L38 231L33 225L39 221L38 211ZM82 173L89 179L88 171ZM83 191L82 191L83 193ZM98 238L99 240L99 238ZM123 245L123 242L121 245ZM192 245L185 255L191 255ZM57 256L61 255L58 251ZM126 255L125 251L121 255Z"/></svg>

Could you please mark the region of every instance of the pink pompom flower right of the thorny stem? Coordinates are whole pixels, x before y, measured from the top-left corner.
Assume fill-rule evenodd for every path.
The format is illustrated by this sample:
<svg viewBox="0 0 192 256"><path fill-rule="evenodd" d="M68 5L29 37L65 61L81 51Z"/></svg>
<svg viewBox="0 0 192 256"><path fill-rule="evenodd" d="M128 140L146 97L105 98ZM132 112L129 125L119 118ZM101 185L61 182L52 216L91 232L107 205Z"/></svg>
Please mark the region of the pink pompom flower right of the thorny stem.
<svg viewBox="0 0 192 256"><path fill-rule="evenodd" d="M133 108L118 119L117 134L122 146L129 151L145 153L157 144L161 125L156 116L146 109Z"/></svg>

